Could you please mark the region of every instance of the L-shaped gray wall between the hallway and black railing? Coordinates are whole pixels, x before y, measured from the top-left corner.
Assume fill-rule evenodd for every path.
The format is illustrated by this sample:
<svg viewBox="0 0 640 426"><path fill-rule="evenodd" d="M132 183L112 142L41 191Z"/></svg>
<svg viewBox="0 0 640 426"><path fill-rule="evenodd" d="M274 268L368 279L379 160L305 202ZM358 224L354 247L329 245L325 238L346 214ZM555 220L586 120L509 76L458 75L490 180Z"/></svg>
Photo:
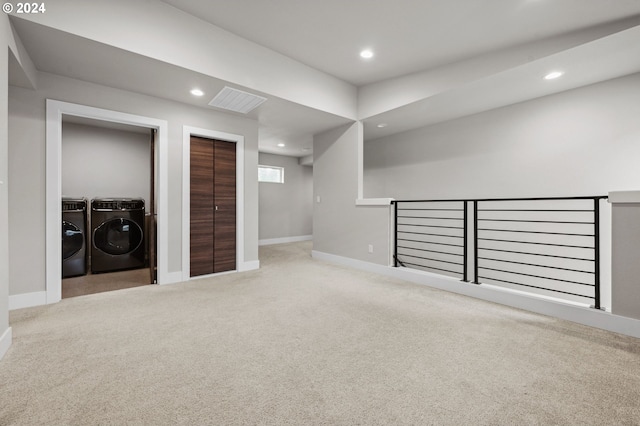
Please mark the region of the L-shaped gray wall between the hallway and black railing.
<svg viewBox="0 0 640 426"><path fill-rule="evenodd" d="M389 208L355 204L361 147L359 123L314 137L313 250L388 265Z"/></svg>

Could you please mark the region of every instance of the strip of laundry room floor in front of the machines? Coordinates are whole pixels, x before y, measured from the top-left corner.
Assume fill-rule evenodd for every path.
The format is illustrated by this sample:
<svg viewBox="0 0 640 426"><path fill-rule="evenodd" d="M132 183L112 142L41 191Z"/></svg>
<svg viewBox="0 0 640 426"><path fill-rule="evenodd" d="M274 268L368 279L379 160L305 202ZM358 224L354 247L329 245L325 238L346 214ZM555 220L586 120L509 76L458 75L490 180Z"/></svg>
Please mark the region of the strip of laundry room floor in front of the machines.
<svg viewBox="0 0 640 426"><path fill-rule="evenodd" d="M62 298L149 285L149 268L88 274L62 280Z"/></svg>

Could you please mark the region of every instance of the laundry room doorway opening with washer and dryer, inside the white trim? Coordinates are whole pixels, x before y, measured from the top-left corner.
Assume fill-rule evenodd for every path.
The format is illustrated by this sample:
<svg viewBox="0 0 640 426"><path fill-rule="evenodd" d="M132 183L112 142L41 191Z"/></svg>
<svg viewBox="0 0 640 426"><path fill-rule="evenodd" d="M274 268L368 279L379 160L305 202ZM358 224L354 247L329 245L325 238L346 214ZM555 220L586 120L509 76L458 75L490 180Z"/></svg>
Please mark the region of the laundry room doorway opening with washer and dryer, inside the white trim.
<svg viewBox="0 0 640 426"><path fill-rule="evenodd" d="M86 267L65 274L63 253L62 298L155 283L154 140L153 129L63 116L63 200L85 200L87 221L74 258Z"/></svg>

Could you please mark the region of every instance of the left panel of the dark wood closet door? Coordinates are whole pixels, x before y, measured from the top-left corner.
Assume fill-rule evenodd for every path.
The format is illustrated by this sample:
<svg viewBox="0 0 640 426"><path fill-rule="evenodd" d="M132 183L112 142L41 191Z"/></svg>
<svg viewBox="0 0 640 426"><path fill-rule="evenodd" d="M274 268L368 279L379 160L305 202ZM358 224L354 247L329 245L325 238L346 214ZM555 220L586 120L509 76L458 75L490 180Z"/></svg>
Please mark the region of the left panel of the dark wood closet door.
<svg viewBox="0 0 640 426"><path fill-rule="evenodd" d="M209 139L191 137L191 276L213 273L213 154Z"/></svg>

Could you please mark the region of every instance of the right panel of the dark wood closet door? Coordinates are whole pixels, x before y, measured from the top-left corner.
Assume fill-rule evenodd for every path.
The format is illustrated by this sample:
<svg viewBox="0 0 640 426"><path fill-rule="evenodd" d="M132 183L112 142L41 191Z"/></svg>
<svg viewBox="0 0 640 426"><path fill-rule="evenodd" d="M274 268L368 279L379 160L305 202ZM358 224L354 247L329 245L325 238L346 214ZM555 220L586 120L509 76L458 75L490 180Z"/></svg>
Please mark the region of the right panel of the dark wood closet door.
<svg viewBox="0 0 640 426"><path fill-rule="evenodd" d="M236 144L215 141L214 272L236 269Z"/></svg>

